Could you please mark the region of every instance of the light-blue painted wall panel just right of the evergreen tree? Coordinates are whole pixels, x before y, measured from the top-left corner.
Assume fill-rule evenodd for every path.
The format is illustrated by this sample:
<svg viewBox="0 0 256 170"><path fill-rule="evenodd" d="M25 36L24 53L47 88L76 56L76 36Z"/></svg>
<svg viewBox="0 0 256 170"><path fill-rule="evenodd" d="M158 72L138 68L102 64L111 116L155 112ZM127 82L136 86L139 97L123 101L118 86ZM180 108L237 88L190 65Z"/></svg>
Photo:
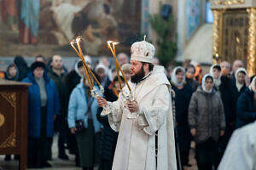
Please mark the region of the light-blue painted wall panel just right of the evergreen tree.
<svg viewBox="0 0 256 170"><path fill-rule="evenodd" d="M201 0L187 0L186 41L192 37L201 22Z"/></svg>

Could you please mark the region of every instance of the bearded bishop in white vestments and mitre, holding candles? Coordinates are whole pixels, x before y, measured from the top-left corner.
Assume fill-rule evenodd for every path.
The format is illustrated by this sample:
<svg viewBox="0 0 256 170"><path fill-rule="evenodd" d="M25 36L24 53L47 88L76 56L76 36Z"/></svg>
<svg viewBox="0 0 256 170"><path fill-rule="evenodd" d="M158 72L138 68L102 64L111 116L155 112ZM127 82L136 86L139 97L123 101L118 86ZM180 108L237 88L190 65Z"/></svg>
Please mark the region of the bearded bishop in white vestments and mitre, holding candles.
<svg viewBox="0 0 256 170"><path fill-rule="evenodd" d="M162 66L153 65L155 48L146 41L131 46L131 94L127 88L115 102L98 97L119 132L113 170L176 170L171 85ZM133 116L131 116L133 115Z"/></svg>

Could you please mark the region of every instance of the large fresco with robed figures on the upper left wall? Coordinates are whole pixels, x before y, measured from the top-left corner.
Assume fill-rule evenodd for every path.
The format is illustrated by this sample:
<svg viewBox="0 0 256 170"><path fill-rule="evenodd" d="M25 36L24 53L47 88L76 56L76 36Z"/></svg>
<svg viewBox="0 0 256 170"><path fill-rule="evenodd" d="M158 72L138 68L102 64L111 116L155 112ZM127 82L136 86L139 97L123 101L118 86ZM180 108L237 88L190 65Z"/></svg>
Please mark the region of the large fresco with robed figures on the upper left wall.
<svg viewBox="0 0 256 170"><path fill-rule="evenodd" d="M68 43L82 36L87 54L101 55L106 42L122 42L129 50L141 30L141 1L137 0L1 0L0 56L12 55L9 45L20 49L72 51ZM23 48L22 48L23 47ZM38 47L42 47L38 48ZM29 50L28 50L29 51ZM109 50L108 50L109 51ZM26 54L29 54L26 51Z"/></svg>

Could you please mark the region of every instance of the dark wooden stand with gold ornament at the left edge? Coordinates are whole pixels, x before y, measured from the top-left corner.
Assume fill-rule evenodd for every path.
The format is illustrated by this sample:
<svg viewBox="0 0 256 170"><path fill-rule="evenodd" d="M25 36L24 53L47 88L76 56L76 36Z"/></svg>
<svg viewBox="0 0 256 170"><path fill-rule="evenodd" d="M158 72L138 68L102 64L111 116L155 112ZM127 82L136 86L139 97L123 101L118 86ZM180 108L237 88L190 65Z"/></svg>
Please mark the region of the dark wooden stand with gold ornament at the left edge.
<svg viewBox="0 0 256 170"><path fill-rule="evenodd" d="M0 155L20 155L20 170L27 162L29 85L0 78Z"/></svg>

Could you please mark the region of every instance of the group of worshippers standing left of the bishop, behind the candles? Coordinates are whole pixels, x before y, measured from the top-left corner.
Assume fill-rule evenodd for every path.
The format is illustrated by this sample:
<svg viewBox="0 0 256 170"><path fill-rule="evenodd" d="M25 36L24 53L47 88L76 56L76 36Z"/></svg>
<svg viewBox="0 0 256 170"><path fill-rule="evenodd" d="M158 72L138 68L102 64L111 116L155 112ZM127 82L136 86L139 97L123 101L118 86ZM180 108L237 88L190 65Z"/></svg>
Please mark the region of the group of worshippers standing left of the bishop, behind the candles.
<svg viewBox="0 0 256 170"><path fill-rule="evenodd" d="M97 65L93 65L90 56L84 59L105 87L104 95L116 100L120 88L115 67L112 68L105 57ZM121 53L118 59L126 79L130 80L129 57ZM52 160L53 136L57 133L60 159L68 160L69 150L75 155L78 167L92 169L99 165L101 169L111 169L118 133L109 127L107 116L100 116L101 109L90 96L81 59L76 61L72 71L67 71L60 55L49 60L38 55L30 66L22 56L16 56L4 78L32 83L29 88L28 167L51 167L48 161ZM121 80L124 82L123 77ZM81 129L79 121L83 122ZM5 156L6 161L10 159L11 156Z"/></svg>

